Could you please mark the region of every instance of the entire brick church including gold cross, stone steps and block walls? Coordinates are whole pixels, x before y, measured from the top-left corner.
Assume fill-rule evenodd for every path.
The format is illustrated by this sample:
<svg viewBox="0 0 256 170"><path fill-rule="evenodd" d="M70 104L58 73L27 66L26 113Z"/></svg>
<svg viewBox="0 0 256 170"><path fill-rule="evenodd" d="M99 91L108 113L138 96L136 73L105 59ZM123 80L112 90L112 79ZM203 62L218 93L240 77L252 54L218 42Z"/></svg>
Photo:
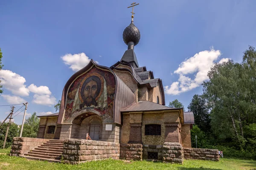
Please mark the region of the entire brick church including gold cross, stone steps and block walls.
<svg viewBox="0 0 256 170"><path fill-rule="evenodd" d="M184 156L198 152L191 151L193 113L165 106L162 80L137 61L140 31L133 18L122 34L128 49L120 61L107 67L91 60L73 74L59 112L38 116L36 139L14 138L13 156L62 157L72 164L107 158L182 163ZM205 154L216 160L217 152ZM208 158L198 154L195 159Z"/></svg>

